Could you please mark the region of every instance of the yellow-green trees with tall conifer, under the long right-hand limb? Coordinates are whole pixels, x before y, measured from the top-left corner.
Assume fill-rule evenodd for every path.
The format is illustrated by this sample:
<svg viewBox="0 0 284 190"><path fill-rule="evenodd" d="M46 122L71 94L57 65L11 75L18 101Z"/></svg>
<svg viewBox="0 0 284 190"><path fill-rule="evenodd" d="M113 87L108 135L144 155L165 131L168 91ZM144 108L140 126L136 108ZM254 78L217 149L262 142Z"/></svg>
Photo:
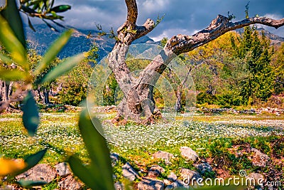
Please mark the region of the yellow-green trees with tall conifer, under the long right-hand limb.
<svg viewBox="0 0 284 190"><path fill-rule="evenodd" d="M225 34L190 52L194 64L206 63L192 72L202 92L197 102L224 107L256 105L283 94L283 49L283 43L271 46L263 32L247 26L241 35Z"/></svg>

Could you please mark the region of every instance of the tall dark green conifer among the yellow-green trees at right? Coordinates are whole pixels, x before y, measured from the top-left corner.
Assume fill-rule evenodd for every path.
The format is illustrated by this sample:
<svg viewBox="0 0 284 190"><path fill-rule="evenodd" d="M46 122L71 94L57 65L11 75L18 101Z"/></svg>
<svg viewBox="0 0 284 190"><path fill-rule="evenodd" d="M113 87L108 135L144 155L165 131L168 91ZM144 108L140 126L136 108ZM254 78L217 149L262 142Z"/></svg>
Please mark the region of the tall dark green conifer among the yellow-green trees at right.
<svg viewBox="0 0 284 190"><path fill-rule="evenodd" d="M270 41L264 33L261 36L253 26L247 26L244 34L239 38L240 46L236 52L239 58L244 59L248 77L242 80L241 95L244 103L249 100L260 99L266 101L273 93L273 69L271 68L271 56L273 49Z"/></svg>

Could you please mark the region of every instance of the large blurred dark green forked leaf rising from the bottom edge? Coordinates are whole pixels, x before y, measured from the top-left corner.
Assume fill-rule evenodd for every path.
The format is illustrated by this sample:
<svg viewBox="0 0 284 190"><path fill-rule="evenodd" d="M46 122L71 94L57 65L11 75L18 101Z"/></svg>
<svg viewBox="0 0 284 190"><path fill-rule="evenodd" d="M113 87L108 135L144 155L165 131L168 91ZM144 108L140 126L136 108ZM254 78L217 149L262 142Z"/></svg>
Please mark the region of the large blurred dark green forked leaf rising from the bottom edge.
<svg viewBox="0 0 284 190"><path fill-rule="evenodd" d="M70 157L68 162L74 174L90 188L114 190L109 148L104 137L97 131L97 127L102 128L99 120L97 118L91 120L87 109L83 110L80 114L79 128L91 164L84 167L80 164L80 159L75 157Z"/></svg>

